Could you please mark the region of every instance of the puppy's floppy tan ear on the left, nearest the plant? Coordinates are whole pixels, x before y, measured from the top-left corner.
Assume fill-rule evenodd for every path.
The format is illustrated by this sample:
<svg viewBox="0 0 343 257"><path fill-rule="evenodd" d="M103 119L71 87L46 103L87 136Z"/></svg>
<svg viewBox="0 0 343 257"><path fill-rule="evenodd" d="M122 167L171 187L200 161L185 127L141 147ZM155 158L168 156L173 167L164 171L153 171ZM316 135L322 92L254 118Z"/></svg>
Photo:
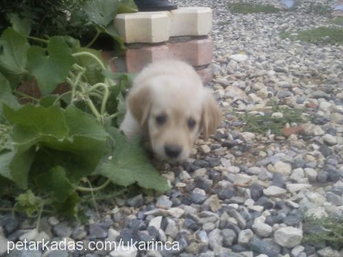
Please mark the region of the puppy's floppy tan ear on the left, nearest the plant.
<svg viewBox="0 0 343 257"><path fill-rule="evenodd" d="M143 127L149 116L152 99L150 91L149 87L140 86L134 88L128 95L128 107L141 127Z"/></svg>

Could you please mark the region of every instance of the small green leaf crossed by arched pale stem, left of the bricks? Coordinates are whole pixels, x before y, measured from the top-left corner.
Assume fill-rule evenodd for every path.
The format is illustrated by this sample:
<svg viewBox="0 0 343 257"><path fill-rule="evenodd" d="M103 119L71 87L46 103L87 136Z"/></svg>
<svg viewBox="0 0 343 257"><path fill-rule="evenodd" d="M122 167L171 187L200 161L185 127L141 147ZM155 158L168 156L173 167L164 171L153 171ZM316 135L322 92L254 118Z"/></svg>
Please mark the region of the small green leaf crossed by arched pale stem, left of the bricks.
<svg viewBox="0 0 343 257"><path fill-rule="evenodd" d="M99 58L99 60L101 60L104 65L106 65L100 51L97 51L95 49L80 47L78 49L78 52L81 52L81 51L92 53L94 56ZM89 84L96 84L99 82L104 82L105 77L104 75L102 75L102 68L99 66L97 61L95 61L93 58L89 56L78 56L76 60L80 66L83 66L86 68L86 73L84 73L84 75L86 75L87 82Z"/></svg>

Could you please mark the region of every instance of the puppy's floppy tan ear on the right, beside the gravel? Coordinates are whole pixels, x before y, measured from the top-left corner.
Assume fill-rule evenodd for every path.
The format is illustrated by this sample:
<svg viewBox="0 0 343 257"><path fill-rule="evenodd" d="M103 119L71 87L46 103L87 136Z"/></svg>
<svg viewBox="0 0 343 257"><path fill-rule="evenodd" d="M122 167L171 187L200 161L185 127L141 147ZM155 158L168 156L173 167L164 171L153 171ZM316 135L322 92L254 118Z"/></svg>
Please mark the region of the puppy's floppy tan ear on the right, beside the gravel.
<svg viewBox="0 0 343 257"><path fill-rule="evenodd" d="M215 129L222 120L222 111L215 101L211 90L205 89L202 103L202 134L204 139L215 132Z"/></svg>

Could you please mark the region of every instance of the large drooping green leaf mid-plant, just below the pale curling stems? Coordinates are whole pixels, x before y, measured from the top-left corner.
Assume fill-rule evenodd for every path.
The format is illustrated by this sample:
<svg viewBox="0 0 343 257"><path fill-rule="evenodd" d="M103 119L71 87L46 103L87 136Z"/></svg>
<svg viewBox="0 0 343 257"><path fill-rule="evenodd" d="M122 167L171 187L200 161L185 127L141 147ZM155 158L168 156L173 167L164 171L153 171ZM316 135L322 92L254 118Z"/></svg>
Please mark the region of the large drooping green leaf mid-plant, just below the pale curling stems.
<svg viewBox="0 0 343 257"><path fill-rule="evenodd" d="M4 106L5 117L14 125L12 139L19 151L38 146L32 165L35 175L59 165L71 182L91 174L106 145L108 134L96 119L69 106L25 105L19 110Z"/></svg>

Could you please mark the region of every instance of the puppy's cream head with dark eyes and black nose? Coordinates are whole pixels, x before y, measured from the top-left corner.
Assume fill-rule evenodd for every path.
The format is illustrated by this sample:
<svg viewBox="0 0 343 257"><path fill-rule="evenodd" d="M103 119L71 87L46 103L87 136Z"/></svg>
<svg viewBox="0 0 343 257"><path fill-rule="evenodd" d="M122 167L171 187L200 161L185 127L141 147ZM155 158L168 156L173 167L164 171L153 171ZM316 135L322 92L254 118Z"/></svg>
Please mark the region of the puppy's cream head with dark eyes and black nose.
<svg viewBox="0 0 343 257"><path fill-rule="evenodd" d="M189 157L199 134L207 138L221 119L211 90L202 85L182 87L182 81L168 77L150 79L134 88L128 106L141 130L149 135L154 153L169 162Z"/></svg>

